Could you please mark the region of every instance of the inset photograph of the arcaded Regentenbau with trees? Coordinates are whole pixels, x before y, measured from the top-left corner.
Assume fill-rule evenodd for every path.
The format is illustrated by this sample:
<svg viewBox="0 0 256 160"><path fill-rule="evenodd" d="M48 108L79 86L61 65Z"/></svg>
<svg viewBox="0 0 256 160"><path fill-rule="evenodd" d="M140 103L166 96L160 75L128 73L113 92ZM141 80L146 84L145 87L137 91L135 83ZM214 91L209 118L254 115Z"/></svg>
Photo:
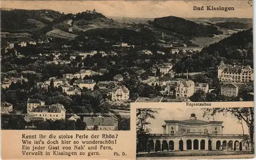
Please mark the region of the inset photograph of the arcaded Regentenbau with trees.
<svg viewBox="0 0 256 160"><path fill-rule="evenodd" d="M137 159L254 157L254 108L137 109Z"/></svg>

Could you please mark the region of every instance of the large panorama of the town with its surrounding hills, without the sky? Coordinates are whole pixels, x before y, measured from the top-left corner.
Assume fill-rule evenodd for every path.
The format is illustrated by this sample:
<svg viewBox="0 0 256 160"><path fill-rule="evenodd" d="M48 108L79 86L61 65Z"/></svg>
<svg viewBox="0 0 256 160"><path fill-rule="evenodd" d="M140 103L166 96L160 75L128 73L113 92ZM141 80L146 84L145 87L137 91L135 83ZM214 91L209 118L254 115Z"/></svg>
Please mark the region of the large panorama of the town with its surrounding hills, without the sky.
<svg viewBox="0 0 256 160"><path fill-rule="evenodd" d="M1 9L2 129L130 130L131 102L253 101L252 19Z"/></svg>

